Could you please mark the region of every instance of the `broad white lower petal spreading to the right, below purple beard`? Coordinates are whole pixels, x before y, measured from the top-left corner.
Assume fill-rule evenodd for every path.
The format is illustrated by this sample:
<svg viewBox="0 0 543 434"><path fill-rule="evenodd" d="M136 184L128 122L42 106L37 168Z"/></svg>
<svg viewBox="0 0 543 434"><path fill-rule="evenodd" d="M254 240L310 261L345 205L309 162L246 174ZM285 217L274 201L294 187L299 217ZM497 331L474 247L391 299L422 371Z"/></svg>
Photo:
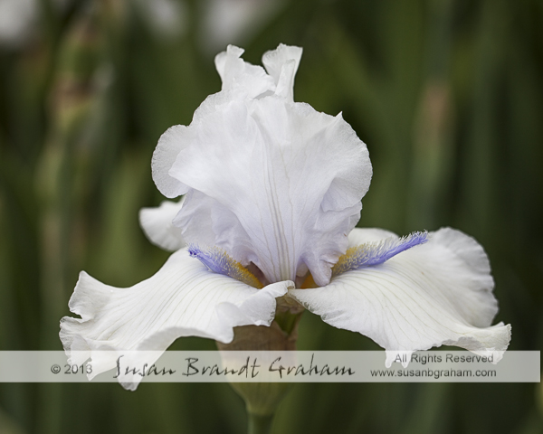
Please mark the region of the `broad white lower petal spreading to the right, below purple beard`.
<svg viewBox="0 0 543 434"><path fill-rule="evenodd" d="M349 238L358 244L390 233L356 229ZM491 326L498 306L490 270L477 241L446 228L384 264L348 271L324 288L289 293L330 325L386 348L387 364L395 352L442 344L488 354L505 351L510 342L510 325Z"/></svg>

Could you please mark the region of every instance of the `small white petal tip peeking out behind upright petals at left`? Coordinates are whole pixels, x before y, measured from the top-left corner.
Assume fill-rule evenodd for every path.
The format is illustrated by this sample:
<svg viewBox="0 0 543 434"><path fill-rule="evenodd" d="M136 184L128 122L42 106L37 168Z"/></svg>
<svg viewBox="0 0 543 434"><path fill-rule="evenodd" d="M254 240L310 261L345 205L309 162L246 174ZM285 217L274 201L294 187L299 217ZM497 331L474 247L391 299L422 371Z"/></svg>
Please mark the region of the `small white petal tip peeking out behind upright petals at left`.
<svg viewBox="0 0 543 434"><path fill-rule="evenodd" d="M149 241L168 251L176 251L186 246L181 229L172 223L184 202L185 196L178 202L164 201L155 208L139 210L139 224Z"/></svg>

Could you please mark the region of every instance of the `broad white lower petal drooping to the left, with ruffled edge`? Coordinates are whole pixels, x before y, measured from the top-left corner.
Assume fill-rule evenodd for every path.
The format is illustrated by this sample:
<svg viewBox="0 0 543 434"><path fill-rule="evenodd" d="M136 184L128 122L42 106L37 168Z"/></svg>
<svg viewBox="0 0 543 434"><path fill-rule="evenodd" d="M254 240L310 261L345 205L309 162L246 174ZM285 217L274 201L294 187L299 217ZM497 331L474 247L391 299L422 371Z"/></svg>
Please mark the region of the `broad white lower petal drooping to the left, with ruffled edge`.
<svg viewBox="0 0 543 434"><path fill-rule="evenodd" d="M61 340L66 352L73 352L72 363L92 357L94 376L115 367L116 353L100 350L155 351L156 360L180 336L229 343L234 326L270 325L275 298L293 286L286 281L260 290L249 287L212 273L186 250L131 288L113 288L81 272L69 305L81 318L62 318ZM141 353L133 363L155 362L146 356Z"/></svg>

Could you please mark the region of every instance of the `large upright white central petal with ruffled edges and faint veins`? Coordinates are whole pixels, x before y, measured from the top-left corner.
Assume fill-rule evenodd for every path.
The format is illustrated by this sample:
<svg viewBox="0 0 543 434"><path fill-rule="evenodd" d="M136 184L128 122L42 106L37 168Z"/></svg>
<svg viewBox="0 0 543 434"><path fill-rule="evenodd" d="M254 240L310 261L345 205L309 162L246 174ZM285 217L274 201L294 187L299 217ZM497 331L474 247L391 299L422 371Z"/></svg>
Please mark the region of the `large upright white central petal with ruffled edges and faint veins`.
<svg viewBox="0 0 543 434"><path fill-rule="evenodd" d="M175 221L186 241L205 244L188 223L210 222L200 233L214 233L214 246L253 262L271 282L294 279L305 264L315 281L328 283L371 179L367 147L347 122L267 97L215 106L186 129L161 138L180 149L173 164L169 151L153 161L154 174L171 165L183 193L200 193L187 197ZM155 182L171 193L162 175Z"/></svg>

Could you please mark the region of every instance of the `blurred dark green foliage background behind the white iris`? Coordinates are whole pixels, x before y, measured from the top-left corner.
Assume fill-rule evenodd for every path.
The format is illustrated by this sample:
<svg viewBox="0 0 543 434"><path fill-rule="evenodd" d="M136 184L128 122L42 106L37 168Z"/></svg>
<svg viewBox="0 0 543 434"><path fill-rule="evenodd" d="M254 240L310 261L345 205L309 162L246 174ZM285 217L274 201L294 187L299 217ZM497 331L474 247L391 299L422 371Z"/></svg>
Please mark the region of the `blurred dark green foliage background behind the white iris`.
<svg viewBox="0 0 543 434"><path fill-rule="evenodd" d="M0 350L61 350L78 272L126 287L167 259L157 139L220 90L228 43L304 49L295 100L344 118L374 165L361 226L452 226L487 250L513 326L543 346L543 3L0 0ZM214 349L205 339L174 349ZM299 349L377 349L303 315ZM543 432L540 384L298 384L276 433ZM226 384L0 384L0 433L241 433Z"/></svg>

